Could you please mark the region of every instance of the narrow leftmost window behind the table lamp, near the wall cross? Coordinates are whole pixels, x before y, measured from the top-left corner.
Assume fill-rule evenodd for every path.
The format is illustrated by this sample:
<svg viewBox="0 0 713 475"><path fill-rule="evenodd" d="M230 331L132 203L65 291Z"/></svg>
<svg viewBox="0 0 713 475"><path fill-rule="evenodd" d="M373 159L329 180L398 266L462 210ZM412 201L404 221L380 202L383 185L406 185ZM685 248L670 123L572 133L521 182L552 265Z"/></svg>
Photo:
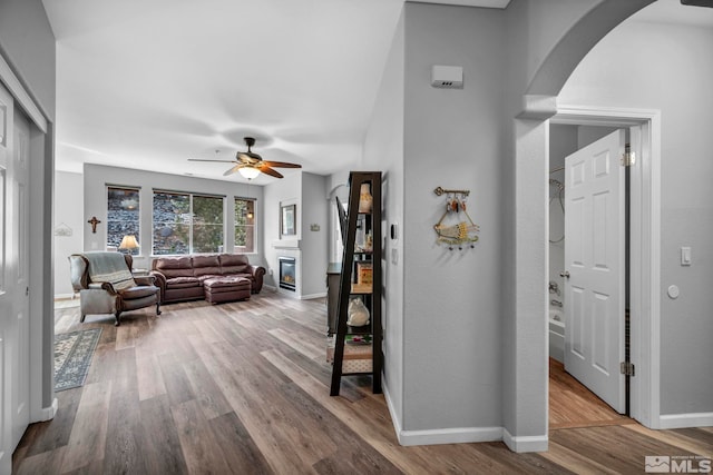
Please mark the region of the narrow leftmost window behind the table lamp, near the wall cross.
<svg viewBox="0 0 713 475"><path fill-rule="evenodd" d="M118 249L124 236L139 238L138 188L107 187L107 249ZM126 249L133 256L138 248Z"/></svg>

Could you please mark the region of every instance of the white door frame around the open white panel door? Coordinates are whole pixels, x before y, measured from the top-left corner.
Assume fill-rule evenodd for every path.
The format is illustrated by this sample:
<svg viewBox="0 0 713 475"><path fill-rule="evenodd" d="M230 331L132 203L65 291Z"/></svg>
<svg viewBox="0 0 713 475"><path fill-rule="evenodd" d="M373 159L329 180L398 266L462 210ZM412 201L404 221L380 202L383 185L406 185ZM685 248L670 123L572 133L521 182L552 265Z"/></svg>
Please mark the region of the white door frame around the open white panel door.
<svg viewBox="0 0 713 475"><path fill-rule="evenodd" d="M631 417L661 427L661 111L588 106L557 107L550 123L641 127L641 150L631 169L629 311ZM632 141L636 140L632 137ZM633 147L634 149L634 147ZM548 171L548 170L546 170Z"/></svg>

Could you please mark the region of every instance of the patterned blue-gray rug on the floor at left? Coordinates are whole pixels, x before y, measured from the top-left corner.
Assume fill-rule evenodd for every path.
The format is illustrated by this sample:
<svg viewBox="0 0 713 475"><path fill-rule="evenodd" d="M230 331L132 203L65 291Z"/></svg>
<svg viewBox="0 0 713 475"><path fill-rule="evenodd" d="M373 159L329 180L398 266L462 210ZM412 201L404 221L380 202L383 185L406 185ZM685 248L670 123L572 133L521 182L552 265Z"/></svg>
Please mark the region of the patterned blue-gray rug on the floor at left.
<svg viewBox="0 0 713 475"><path fill-rule="evenodd" d="M85 384L101 328L55 335L55 390Z"/></svg>

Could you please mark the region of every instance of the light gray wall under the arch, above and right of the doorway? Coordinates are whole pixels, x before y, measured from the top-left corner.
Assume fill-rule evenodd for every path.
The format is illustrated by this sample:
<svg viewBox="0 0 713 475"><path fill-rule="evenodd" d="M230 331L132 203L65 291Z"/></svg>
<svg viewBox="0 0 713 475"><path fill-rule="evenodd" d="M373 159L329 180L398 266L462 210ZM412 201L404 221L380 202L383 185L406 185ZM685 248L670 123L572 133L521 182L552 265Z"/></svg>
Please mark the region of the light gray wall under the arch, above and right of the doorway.
<svg viewBox="0 0 713 475"><path fill-rule="evenodd" d="M661 109L662 415L713 412L712 47L710 28L625 23L560 93L565 103ZM681 246L693 249L691 267L680 265Z"/></svg>

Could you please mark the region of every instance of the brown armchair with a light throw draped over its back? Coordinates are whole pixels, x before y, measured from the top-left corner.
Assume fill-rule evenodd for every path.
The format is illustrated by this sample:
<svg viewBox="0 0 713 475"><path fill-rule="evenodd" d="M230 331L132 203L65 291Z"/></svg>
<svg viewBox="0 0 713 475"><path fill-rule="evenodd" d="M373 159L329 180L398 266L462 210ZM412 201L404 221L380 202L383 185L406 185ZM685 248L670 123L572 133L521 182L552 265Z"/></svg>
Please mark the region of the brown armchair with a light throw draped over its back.
<svg viewBox="0 0 713 475"><path fill-rule="evenodd" d="M120 253L82 253L69 256L71 285L79 293L80 321L89 314L114 314L120 325L123 311L156 305L160 315L160 290L153 276L135 277L134 259Z"/></svg>

